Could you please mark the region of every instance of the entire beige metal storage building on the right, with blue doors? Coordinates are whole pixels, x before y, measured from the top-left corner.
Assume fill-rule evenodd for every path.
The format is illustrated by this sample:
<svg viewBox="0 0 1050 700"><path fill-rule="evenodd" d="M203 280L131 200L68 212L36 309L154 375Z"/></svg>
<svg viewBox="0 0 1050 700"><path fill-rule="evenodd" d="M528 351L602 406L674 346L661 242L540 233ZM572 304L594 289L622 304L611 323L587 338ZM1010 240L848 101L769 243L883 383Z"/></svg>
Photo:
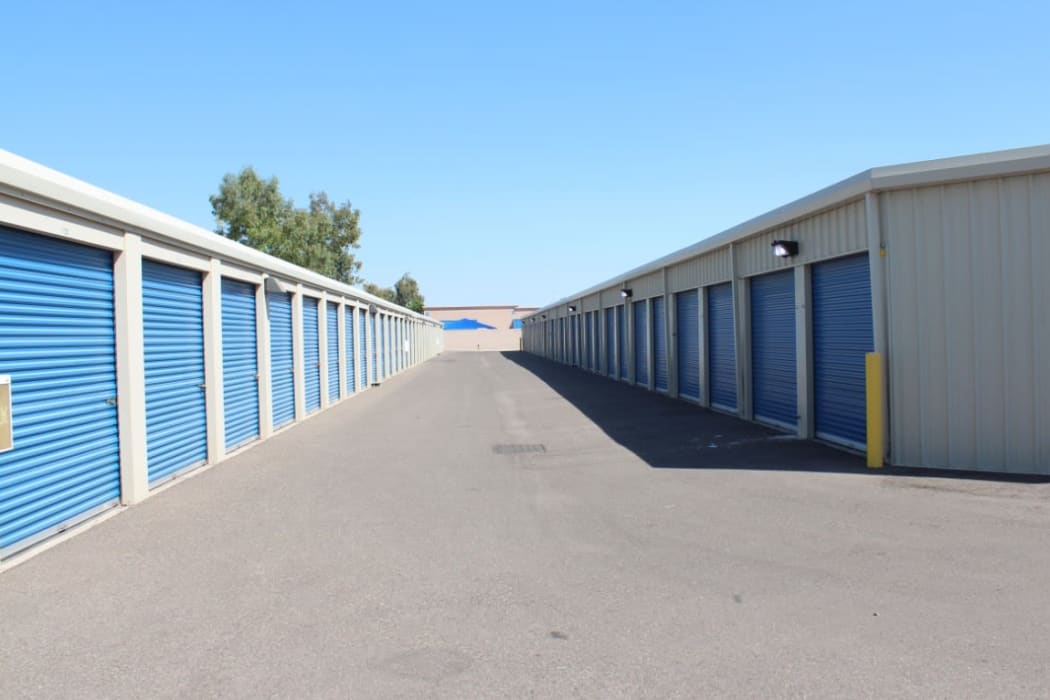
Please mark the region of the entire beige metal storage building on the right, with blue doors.
<svg viewBox="0 0 1050 700"><path fill-rule="evenodd" d="M544 306L525 344L853 448L874 352L888 463L1050 474L1047 270L1050 146L882 167Z"/></svg>

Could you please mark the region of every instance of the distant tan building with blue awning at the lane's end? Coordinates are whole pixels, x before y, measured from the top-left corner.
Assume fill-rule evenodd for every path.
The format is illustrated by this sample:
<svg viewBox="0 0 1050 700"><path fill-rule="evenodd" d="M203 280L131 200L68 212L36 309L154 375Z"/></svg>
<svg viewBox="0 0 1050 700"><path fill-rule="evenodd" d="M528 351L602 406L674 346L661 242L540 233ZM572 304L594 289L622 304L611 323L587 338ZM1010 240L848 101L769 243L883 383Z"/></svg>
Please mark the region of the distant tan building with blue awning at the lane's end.
<svg viewBox="0 0 1050 700"><path fill-rule="evenodd" d="M521 349L522 317L534 306L427 306L445 327L445 351Z"/></svg>

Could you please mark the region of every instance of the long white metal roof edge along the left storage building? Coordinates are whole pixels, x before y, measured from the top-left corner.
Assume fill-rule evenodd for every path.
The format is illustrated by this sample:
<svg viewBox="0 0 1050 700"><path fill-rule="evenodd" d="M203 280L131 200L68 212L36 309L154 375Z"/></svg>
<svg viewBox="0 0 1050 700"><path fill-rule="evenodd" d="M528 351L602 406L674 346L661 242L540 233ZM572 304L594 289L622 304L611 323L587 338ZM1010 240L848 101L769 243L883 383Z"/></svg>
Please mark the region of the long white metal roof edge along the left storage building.
<svg viewBox="0 0 1050 700"><path fill-rule="evenodd" d="M318 288L361 302L374 303L387 311L396 311L434 324L433 319L422 314L393 304L352 284L249 248L3 149L0 149L0 184L12 188L19 198L35 201L49 209L70 213L129 233L139 233L146 238L173 245L183 250L248 266L288 281Z"/></svg>

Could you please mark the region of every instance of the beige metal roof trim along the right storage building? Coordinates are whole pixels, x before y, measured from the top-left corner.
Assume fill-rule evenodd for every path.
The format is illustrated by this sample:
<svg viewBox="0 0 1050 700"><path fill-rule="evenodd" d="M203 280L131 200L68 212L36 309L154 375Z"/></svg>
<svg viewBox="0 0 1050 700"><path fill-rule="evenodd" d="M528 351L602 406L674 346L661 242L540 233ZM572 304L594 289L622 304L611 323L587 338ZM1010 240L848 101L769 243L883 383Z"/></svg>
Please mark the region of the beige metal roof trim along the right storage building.
<svg viewBox="0 0 1050 700"><path fill-rule="evenodd" d="M813 194L773 209L755 218L709 236L692 246L656 258L628 270L598 284L587 288L538 309L529 317L562 304L579 301L583 297L612 289L625 280L635 279L685 260L704 255L730 243L750 238L764 231L805 218L825 209L862 197L868 192L904 189L910 187L948 184L985 177L1024 174L1050 168L1050 145L1015 148L1004 151L976 153L933 161L919 161L901 165L883 166L859 172ZM526 318L529 318L526 317Z"/></svg>

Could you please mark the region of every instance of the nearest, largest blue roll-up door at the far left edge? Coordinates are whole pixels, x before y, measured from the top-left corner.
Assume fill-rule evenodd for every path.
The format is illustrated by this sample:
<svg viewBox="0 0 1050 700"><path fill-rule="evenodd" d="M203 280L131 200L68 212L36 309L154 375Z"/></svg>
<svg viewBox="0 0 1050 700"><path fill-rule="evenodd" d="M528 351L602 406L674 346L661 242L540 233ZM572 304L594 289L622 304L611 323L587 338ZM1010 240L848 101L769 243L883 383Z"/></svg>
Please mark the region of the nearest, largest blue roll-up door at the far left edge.
<svg viewBox="0 0 1050 700"><path fill-rule="evenodd" d="M0 557L120 499L113 267L108 251L0 228Z"/></svg>

